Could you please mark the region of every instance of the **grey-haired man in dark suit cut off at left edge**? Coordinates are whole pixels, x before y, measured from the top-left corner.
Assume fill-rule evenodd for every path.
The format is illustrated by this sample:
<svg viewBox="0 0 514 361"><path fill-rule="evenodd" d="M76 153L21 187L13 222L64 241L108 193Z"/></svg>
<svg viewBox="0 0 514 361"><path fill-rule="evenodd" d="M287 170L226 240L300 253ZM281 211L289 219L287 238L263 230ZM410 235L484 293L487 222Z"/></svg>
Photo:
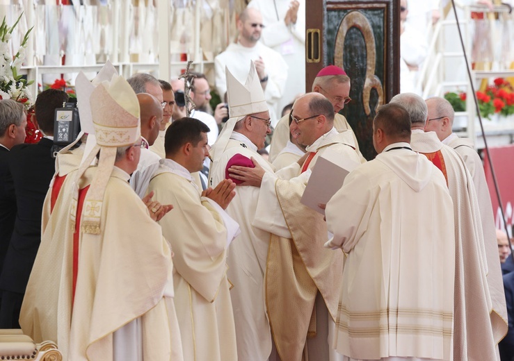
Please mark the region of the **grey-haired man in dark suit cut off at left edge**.
<svg viewBox="0 0 514 361"><path fill-rule="evenodd" d="M0 271L16 217L15 190L7 160L10 149L25 140L25 127L26 114L22 103L0 100Z"/></svg>

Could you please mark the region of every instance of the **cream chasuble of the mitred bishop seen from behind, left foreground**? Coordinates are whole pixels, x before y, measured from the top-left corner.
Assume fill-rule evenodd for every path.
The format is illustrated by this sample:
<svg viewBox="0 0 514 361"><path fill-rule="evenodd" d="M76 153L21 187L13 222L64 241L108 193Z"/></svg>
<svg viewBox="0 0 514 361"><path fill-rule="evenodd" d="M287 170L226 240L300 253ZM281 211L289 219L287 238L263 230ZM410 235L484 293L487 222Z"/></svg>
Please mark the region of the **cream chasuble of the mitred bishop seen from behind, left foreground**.
<svg viewBox="0 0 514 361"><path fill-rule="evenodd" d="M86 171L80 189L96 170ZM79 235L70 360L118 360L115 349L133 342L140 343L143 360L184 360L170 292L170 246L128 178L124 171L113 169L103 199L102 232ZM71 282L67 287L72 287ZM113 337L136 319L140 339Z"/></svg>

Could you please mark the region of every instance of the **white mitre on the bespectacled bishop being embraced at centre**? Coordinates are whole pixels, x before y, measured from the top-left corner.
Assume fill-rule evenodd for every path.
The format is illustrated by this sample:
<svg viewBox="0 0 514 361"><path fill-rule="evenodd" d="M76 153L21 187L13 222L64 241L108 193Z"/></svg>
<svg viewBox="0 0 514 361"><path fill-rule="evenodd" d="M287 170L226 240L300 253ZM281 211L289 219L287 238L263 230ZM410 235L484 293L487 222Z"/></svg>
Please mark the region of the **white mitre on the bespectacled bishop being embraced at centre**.
<svg viewBox="0 0 514 361"><path fill-rule="evenodd" d="M225 67L225 74L227 74L227 99L230 119L228 119L209 151L213 160L216 160L225 151L230 135L232 135L234 126L238 121L244 119L247 115L268 111L264 90L262 90L257 69L255 69L252 61L250 61L250 72L244 85L239 83L227 67Z"/></svg>

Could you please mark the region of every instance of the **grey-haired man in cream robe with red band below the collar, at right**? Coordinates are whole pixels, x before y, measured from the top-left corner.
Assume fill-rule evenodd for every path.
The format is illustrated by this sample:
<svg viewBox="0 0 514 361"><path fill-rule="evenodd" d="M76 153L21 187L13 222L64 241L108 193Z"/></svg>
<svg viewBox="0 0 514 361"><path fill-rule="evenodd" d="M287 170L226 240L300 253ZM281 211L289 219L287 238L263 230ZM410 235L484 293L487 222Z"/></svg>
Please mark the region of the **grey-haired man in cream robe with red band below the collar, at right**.
<svg viewBox="0 0 514 361"><path fill-rule="evenodd" d="M493 285L492 292L488 287L488 271L499 267L499 264L485 260L485 249L489 247L484 244L479 203L471 174L463 159L442 144L435 133L424 133L426 122L433 119L428 119L426 103L420 96L398 94L391 103L397 103L409 112L412 150L423 153L442 171L453 200L456 242L453 358L496 360L495 346L507 332L505 296L501 287L498 289ZM494 308L491 300L495 302Z"/></svg>

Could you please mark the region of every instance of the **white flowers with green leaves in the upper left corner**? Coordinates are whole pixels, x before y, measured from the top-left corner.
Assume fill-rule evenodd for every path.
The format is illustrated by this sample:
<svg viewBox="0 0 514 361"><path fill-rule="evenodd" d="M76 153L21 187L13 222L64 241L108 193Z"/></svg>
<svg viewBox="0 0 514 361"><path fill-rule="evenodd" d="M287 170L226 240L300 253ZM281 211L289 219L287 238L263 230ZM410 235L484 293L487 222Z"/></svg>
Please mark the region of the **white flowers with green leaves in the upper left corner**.
<svg viewBox="0 0 514 361"><path fill-rule="evenodd" d="M18 73L25 59L27 40L29 40L29 33L32 31L32 28L25 33L15 56L11 53L9 46L11 34L17 26L19 19L22 18L22 15L23 13L19 15L13 26L9 27L7 25L6 17L3 17L3 21L0 25L0 99L13 99L19 103L24 103L26 108L29 108L32 103L32 94L28 87L33 81L27 82L26 79L23 78L22 75L18 75Z"/></svg>

